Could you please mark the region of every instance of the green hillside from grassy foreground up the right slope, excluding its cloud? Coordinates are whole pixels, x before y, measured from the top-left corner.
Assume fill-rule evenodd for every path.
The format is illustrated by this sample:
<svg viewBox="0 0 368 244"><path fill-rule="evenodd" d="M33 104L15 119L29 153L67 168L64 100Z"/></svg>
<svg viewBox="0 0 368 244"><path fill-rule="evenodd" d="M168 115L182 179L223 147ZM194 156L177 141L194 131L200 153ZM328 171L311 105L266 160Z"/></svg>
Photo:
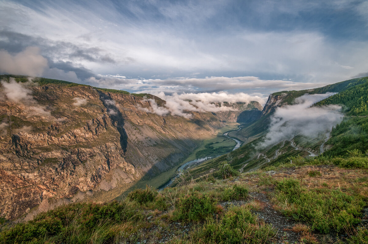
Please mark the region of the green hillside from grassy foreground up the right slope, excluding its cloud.
<svg viewBox="0 0 368 244"><path fill-rule="evenodd" d="M367 85L360 78L309 90L339 92L315 104L344 107L328 140L299 135L260 151L257 131L163 191L146 186L121 201L74 203L25 223L1 219L0 243L368 244Z"/></svg>

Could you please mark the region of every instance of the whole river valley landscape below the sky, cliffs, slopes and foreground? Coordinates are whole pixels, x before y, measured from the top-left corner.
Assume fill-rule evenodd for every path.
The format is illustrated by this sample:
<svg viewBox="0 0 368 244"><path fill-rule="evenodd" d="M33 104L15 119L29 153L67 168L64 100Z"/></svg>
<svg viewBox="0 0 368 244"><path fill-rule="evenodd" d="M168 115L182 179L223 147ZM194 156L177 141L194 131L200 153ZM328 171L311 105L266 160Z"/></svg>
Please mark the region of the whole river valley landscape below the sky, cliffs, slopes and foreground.
<svg viewBox="0 0 368 244"><path fill-rule="evenodd" d="M156 114L166 101L149 94L2 79L2 238L45 223L57 243L75 241L69 228L122 243L221 243L230 230L244 243L241 228L265 243L365 244L368 78L188 118Z"/></svg>

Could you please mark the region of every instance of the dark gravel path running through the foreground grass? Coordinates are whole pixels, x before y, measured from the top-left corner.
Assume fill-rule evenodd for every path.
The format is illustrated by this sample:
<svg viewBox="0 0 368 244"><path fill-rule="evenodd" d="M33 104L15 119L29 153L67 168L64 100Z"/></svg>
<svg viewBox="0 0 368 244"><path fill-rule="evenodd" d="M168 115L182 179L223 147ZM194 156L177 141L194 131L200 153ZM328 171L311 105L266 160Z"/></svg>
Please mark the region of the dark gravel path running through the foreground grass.
<svg viewBox="0 0 368 244"><path fill-rule="evenodd" d="M276 212L265 194L251 192L249 195L264 205L262 210L254 211L254 213L258 215L258 218L263 219L265 223L271 224L275 228L279 243L298 243L299 234L288 230L295 222Z"/></svg>

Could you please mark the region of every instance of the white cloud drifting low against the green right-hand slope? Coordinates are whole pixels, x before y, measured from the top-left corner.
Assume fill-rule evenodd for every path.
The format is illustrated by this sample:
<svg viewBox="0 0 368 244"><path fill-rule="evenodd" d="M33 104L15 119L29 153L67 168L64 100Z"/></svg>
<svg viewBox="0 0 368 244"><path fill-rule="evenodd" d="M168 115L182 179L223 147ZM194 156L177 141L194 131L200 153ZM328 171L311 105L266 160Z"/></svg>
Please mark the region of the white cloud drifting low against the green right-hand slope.
<svg viewBox="0 0 368 244"><path fill-rule="evenodd" d="M259 147L268 147L297 135L316 138L331 131L332 126L342 121L341 107L337 105L313 106L314 103L334 93L305 94L296 98L295 105L278 107L271 118L270 128Z"/></svg>

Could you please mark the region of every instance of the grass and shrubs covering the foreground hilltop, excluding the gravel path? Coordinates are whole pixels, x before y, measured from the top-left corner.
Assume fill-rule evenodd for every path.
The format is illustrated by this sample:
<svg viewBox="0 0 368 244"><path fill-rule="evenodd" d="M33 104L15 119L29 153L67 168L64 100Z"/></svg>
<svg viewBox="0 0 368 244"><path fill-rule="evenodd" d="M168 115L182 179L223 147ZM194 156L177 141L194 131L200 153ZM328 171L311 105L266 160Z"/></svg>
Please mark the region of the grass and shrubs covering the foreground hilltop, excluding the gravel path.
<svg viewBox="0 0 368 244"><path fill-rule="evenodd" d="M236 182L183 179L181 186L161 192L147 186L119 202L70 204L16 225L2 219L0 243L158 243L167 233L171 243L275 243L276 230L251 213L262 211L265 203L250 199L248 191L268 193L275 210L296 219L292 230L300 243L318 243L336 233L348 233L339 237L345 243L367 243L367 231L355 228L367 207L366 169L323 164L273 170L272 176L261 170L244 173ZM321 176L310 177L311 170ZM238 200L245 204L218 204Z"/></svg>

